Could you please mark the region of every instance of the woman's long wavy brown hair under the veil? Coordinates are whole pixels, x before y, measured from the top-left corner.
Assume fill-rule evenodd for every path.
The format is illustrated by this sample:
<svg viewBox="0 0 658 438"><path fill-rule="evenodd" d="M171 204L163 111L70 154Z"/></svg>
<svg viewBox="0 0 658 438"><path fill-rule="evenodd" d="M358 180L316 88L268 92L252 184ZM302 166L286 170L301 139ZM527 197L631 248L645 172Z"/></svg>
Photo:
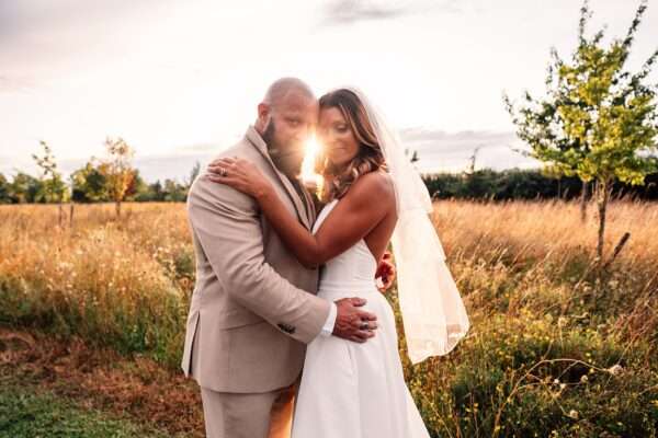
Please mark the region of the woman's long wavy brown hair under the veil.
<svg viewBox="0 0 658 438"><path fill-rule="evenodd" d="M324 203L329 203L343 197L361 175L388 169L365 107L356 94L347 89L331 91L320 97L320 111L326 108L337 108L341 112L359 142L356 157L340 169L325 152L318 154L316 172L324 178L319 196Z"/></svg>

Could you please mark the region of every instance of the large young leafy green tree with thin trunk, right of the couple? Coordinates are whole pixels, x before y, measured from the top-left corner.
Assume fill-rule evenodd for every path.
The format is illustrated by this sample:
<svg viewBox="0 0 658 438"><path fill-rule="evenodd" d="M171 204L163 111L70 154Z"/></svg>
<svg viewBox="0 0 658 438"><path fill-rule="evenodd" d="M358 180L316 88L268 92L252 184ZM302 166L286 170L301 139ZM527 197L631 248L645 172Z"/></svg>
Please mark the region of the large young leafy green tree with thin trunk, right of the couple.
<svg viewBox="0 0 658 438"><path fill-rule="evenodd" d="M586 36L591 18L586 0L580 10L578 47L570 61L552 50L546 96L533 99L526 92L524 104L519 107L504 96L517 134L531 146L531 157L545 162L557 174L577 175L583 183L594 182L599 262L603 260L605 212L613 182L642 185L647 174L658 170L658 159L654 155L658 151L657 87L645 83L658 50L639 71L632 73L625 69L646 9L644 0L626 36L604 45L603 30ZM621 245L615 255L619 250Z"/></svg>

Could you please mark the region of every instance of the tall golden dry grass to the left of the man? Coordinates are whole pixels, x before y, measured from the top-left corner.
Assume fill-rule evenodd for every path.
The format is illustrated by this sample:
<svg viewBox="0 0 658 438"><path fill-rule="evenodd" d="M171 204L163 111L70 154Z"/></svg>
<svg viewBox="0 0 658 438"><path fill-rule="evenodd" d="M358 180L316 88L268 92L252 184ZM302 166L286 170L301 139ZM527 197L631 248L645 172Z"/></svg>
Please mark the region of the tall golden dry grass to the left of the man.
<svg viewBox="0 0 658 438"><path fill-rule="evenodd" d="M184 206L0 207L0 322L79 335L173 366L193 285Z"/></svg>

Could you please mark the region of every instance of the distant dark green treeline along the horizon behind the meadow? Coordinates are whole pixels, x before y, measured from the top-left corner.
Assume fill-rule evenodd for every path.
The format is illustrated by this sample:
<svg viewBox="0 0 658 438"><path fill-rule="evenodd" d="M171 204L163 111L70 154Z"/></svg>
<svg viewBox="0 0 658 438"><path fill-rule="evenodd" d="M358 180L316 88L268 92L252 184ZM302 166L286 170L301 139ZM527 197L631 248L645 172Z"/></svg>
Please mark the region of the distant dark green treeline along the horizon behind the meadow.
<svg viewBox="0 0 658 438"><path fill-rule="evenodd" d="M193 175L198 172L196 168ZM192 176L193 176L192 175ZM174 180L146 183L135 171L126 200L133 201L184 201L190 181ZM71 196L75 203L106 203L111 195L106 189L105 177L92 166L83 168L71 175ZM465 199L549 199L560 197L572 199L580 196L582 183L578 177L555 178L538 170L490 169L473 173L439 173L424 175L423 181L433 198ZM591 189L589 191L591 193ZM635 199L658 199L658 174L648 175L644 186L629 186L615 183L614 197ZM45 204L44 182L26 173L19 172L12 181L0 174L0 204Z"/></svg>

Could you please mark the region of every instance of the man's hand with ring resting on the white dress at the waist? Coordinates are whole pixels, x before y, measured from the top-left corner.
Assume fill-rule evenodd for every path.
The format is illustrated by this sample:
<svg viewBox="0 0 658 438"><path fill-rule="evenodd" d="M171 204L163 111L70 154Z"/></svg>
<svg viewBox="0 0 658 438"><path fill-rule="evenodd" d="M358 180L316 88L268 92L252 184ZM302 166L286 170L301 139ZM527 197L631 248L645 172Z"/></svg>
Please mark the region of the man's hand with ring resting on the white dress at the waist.
<svg viewBox="0 0 658 438"><path fill-rule="evenodd" d="M377 316L360 309L365 302L363 298L343 298L336 301L338 313L333 325L334 336L364 343L375 335Z"/></svg>

